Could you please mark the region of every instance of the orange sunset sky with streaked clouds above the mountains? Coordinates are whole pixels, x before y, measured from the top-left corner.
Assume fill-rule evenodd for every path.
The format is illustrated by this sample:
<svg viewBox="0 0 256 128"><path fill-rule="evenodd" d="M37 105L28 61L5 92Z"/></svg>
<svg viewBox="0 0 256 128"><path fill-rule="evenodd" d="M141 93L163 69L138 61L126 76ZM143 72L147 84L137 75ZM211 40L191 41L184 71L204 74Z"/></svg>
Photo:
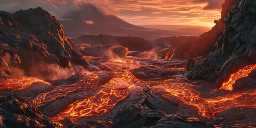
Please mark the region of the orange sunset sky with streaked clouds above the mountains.
<svg viewBox="0 0 256 128"><path fill-rule="evenodd" d="M0 10L15 12L43 7L61 20L70 10L90 2L106 14L134 25L192 25L212 27L225 0L0 0Z"/></svg>

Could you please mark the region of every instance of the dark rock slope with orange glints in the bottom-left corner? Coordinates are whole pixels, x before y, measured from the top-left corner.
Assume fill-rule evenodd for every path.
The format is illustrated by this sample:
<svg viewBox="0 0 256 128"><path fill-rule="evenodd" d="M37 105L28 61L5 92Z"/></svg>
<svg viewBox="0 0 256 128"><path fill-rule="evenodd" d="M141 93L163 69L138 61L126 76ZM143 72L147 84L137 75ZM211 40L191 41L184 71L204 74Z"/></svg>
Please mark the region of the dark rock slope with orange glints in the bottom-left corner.
<svg viewBox="0 0 256 128"><path fill-rule="evenodd" d="M0 102L0 127L60 127L18 97L0 95Z"/></svg>

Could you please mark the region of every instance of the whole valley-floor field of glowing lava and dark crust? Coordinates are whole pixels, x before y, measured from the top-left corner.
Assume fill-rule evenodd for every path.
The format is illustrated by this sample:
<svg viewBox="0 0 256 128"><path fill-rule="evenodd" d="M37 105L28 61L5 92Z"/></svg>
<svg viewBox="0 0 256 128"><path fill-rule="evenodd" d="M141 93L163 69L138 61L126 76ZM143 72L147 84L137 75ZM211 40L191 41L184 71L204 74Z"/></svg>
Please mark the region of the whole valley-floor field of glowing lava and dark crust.
<svg viewBox="0 0 256 128"><path fill-rule="evenodd" d="M120 110L131 105L160 110L165 115L197 118L215 127L242 127L254 122L247 116L256 114L256 89L234 91L233 85L249 76L256 65L238 70L220 89L214 90L213 83L189 81L187 61L172 57L173 54L158 59L148 52L140 58L127 54L124 58L97 58L95 66L100 71L83 71L58 81L2 77L1 94L19 95L54 122L65 118L78 124L112 122ZM168 110L170 107L172 110ZM237 121L236 115L242 119Z"/></svg>

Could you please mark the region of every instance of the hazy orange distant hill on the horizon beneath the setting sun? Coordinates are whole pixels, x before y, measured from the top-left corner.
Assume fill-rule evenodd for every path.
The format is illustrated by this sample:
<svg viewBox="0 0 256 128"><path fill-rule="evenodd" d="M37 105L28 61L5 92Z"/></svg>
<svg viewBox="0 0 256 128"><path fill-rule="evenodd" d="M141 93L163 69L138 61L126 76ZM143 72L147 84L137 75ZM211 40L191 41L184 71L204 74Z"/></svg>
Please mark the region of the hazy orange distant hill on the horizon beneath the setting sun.
<svg viewBox="0 0 256 128"><path fill-rule="evenodd" d="M179 33L199 36L209 30L211 27L204 26L180 26L180 25L139 25L140 27L177 31Z"/></svg>

